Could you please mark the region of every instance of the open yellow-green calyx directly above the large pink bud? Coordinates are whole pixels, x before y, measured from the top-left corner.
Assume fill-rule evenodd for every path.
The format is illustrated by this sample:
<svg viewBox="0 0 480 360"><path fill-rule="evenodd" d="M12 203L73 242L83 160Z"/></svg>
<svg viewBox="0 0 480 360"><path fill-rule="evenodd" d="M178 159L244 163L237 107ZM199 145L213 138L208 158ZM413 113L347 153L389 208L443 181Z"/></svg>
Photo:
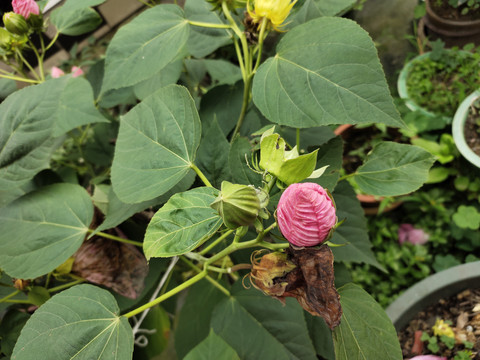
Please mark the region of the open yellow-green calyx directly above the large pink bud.
<svg viewBox="0 0 480 360"><path fill-rule="evenodd" d="M285 146L285 140L280 135L264 133L260 142L260 168L287 185L312 175L317 164L318 150L299 155L296 147L286 151Z"/></svg>

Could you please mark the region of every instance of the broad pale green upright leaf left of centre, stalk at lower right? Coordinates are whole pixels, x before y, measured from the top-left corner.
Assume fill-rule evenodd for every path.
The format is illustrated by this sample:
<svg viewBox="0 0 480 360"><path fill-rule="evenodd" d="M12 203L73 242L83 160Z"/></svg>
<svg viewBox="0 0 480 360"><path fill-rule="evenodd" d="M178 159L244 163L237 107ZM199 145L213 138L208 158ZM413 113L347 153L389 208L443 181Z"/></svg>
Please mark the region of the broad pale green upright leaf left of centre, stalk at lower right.
<svg viewBox="0 0 480 360"><path fill-rule="evenodd" d="M119 199L151 200L179 183L192 171L200 126L193 99L176 85L160 89L130 110L120 122L112 165Z"/></svg>

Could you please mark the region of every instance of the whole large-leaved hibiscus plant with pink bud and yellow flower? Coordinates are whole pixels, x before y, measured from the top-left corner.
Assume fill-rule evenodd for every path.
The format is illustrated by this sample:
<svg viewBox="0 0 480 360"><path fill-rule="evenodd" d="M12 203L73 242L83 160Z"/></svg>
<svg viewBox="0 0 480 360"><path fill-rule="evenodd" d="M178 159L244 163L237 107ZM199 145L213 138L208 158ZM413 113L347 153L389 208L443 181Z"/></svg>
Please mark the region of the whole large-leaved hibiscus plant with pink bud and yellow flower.
<svg viewBox="0 0 480 360"><path fill-rule="evenodd" d="M345 178L406 194L433 159L382 142L340 175L336 125L404 126L355 1L142 1L89 67L46 69L104 1L3 17L0 356L401 359L349 282L381 266Z"/></svg>

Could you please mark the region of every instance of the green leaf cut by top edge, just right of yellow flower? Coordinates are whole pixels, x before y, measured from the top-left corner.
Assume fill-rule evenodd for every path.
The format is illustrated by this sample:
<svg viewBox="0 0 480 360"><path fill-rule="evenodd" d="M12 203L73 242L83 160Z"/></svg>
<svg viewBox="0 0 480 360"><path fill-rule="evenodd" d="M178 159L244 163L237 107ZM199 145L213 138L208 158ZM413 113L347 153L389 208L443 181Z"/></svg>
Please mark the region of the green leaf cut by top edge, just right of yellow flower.
<svg viewBox="0 0 480 360"><path fill-rule="evenodd" d="M321 16L336 16L352 7L356 0L306 0L302 7L289 18L287 28L291 29L299 24Z"/></svg>

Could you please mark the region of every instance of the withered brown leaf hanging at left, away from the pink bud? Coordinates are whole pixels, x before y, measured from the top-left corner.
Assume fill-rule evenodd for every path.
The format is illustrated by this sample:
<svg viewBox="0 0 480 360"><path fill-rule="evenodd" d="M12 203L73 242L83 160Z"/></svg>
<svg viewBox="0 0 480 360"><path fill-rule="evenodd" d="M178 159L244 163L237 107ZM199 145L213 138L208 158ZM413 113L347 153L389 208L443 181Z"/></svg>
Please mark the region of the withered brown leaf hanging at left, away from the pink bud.
<svg viewBox="0 0 480 360"><path fill-rule="evenodd" d="M135 299L144 288L148 265L134 246L93 237L74 254L72 273Z"/></svg>

